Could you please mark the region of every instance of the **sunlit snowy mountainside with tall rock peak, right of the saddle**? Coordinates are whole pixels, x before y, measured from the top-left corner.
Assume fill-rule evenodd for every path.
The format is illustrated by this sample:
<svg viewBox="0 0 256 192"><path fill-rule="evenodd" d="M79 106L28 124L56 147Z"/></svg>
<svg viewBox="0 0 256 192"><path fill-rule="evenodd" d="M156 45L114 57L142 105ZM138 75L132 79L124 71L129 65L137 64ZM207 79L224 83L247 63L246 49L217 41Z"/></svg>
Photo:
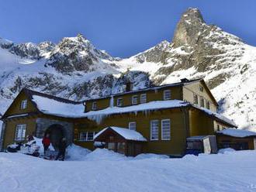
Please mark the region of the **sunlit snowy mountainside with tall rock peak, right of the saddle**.
<svg viewBox="0 0 256 192"><path fill-rule="evenodd" d="M198 9L188 9L171 43L163 41L120 60L119 66L123 70L145 70L155 84L203 77L219 101L220 112L241 129L255 129L255 63L256 47L207 25Z"/></svg>

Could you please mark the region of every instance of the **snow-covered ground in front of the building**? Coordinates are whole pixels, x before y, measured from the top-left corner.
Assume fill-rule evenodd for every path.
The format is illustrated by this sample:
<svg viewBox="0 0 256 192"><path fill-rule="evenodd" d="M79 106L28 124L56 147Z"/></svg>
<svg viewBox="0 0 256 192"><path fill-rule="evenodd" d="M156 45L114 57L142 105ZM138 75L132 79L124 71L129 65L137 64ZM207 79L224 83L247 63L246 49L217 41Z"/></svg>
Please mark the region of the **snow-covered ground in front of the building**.
<svg viewBox="0 0 256 192"><path fill-rule="evenodd" d="M256 151L167 159L107 149L80 161L0 153L1 191L256 191Z"/></svg>

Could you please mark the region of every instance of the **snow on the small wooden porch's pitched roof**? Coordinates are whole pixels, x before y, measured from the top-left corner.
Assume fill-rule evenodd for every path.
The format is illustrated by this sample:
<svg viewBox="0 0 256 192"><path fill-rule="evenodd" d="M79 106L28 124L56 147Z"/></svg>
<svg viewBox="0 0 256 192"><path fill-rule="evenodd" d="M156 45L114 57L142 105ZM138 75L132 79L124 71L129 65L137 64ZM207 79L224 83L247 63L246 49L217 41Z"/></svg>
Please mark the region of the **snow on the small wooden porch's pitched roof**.
<svg viewBox="0 0 256 192"><path fill-rule="evenodd" d="M102 135L102 133L105 132L107 129L112 129L114 132L117 132L119 135L123 136L123 138L126 140L147 142L147 139L145 139L144 136L140 134L140 132L113 126L102 129L102 131L98 132L93 139L95 140L97 137L99 137L99 135Z"/></svg>

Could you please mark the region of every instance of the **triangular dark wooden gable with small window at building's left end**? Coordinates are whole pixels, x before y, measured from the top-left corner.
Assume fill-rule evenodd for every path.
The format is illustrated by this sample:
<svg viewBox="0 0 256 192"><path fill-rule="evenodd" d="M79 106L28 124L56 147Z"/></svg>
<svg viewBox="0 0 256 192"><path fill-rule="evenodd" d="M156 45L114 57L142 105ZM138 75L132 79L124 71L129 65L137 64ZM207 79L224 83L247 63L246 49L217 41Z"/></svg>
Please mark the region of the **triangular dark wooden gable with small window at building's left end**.
<svg viewBox="0 0 256 192"><path fill-rule="evenodd" d="M21 108L21 103L23 100L27 100L27 107L24 109ZM12 104L9 106L7 111L5 111L5 114L2 116L2 118L35 111L37 111L37 109L35 105L33 105L33 102L30 100L29 96L25 93L25 91L21 91L14 99L14 101L12 101Z"/></svg>

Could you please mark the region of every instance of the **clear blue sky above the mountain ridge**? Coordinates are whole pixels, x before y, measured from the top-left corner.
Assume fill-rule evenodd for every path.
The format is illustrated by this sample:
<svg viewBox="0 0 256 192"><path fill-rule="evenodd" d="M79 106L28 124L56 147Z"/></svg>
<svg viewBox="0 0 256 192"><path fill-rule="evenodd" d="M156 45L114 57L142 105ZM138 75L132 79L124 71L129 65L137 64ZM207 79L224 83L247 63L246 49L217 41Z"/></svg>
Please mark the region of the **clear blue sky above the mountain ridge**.
<svg viewBox="0 0 256 192"><path fill-rule="evenodd" d="M57 43L82 33L112 56L129 57L171 41L189 7L199 8L206 22L256 46L254 0L0 0L0 37Z"/></svg>

